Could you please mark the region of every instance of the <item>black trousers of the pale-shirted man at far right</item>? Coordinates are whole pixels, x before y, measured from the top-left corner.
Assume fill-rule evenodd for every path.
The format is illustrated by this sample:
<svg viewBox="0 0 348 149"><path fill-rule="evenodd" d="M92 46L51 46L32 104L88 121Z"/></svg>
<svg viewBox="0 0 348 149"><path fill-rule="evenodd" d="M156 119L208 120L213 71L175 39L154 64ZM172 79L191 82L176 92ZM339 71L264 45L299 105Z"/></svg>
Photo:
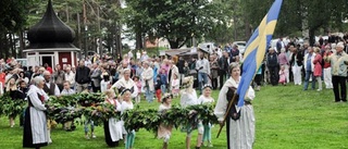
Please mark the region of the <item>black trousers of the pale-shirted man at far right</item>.
<svg viewBox="0 0 348 149"><path fill-rule="evenodd" d="M347 101L346 77L345 76L333 76L333 86L334 86L335 101L336 102L338 102L340 100ZM339 92L340 92L340 95L339 95Z"/></svg>

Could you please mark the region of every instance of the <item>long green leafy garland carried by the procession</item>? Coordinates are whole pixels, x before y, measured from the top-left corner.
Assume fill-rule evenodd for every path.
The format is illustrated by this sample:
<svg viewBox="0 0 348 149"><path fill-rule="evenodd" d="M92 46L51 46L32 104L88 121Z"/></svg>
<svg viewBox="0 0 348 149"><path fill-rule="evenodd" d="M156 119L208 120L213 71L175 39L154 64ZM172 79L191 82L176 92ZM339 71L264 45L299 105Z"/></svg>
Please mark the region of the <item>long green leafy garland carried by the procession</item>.
<svg viewBox="0 0 348 149"><path fill-rule="evenodd" d="M27 101L12 100L9 94L0 97L0 114L20 114L27 107ZM96 124L102 124L110 117L123 120L126 129L138 131L145 128L156 133L160 124L173 125L178 128L181 125L201 120L204 124L216 124L217 119L213 114L213 104L197 104L182 108L179 104L172 105L171 109L159 112L157 109L140 110L136 107L133 110L121 112L104 102L102 94L76 94L62 97L50 97L47 104L47 113L50 120L64 123L75 120L84 124L86 120L92 120Z"/></svg>

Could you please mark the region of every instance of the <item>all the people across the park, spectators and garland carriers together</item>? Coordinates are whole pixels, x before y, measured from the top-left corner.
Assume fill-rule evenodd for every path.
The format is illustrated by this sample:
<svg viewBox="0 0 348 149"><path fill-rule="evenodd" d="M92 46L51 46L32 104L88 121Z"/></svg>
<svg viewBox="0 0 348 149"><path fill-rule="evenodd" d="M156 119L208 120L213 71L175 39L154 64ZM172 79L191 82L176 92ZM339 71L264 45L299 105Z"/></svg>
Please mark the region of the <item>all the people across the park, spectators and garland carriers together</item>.
<svg viewBox="0 0 348 149"><path fill-rule="evenodd" d="M311 47L308 42L303 46L295 41L285 44L281 38L275 48L268 50L264 64L258 70L253 88L250 87L245 97L241 110L232 107L231 111L226 111L228 104L236 104L236 101L231 99L236 92L241 74L243 53L239 52L238 46L226 46L224 49L219 47L213 53L200 53L197 59L190 60L183 57L150 58L146 52L134 58L132 51L123 58L119 55L115 60L95 54L79 60L76 66L57 64L52 67L44 64L26 67L21 66L15 59L0 60L0 94L9 91L13 99L28 100L25 116L20 116L20 125L24 126L23 146L39 148L52 142L50 125L54 122L46 120L45 116L45 101L48 100L48 96L60 97L84 91L103 92L107 95L105 102L113 104L120 112L133 109L133 102L139 103L141 99L147 102L161 102L159 109L165 112L171 108L171 99L174 97L181 98L182 107L211 103L214 102L211 91L219 89L214 113L221 123L226 120L227 146L252 148L253 89L260 90L262 82L274 86L286 85L289 82L302 85L304 76L303 90L308 89L310 82L311 88L316 89L318 82L316 90L321 91L324 80L325 87L334 90L336 102L347 101L348 55L345 49L345 44L339 40L324 40ZM195 88L201 95L199 98ZM14 119L15 115L10 116L11 127L15 125ZM115 147L120 140L124 140L126 149L134 147L136 133L125 129L122 120L111 117L103 126L108 146ZM163 139L163 148L167 148L172 127L164 124L159 127L158 136ZM64 128L74 131L74 123L64 124ZM190 146L194 128L197 128L199 134L196 148L200 148L206 140L208 144L204 145L212 147L211 125L197 121L195 126L187 124L182 128L187 133L186 148ZM96 138L92 121L87 121L84 129L86 139ZM33 134L34 131L37 133Z"/></svg>

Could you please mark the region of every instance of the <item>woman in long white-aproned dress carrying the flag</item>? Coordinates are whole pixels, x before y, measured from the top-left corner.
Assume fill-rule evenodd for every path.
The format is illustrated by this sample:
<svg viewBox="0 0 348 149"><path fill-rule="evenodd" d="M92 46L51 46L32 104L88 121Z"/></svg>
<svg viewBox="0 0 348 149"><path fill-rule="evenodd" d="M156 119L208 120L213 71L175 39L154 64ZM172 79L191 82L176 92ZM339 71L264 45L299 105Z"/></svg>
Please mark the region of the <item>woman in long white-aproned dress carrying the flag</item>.
<svg viewBox="0 0 348 149"><path fill-rule="evenodd" d="M222 124L224 115L227 111L229 102L237 90L240 82L240 69L239 64L233 63L229 65L231 77L226 80L222 87L214 114L217 116L219 122ZM254 98L254 91L249 87L245 95L245 105L240 110L236 110L238 103L238 96L233 102L231 111L228 111L226 117L226 129L227 129L227 146L228 149L251 149L254 142L254 114L251 101Z"/></svg>

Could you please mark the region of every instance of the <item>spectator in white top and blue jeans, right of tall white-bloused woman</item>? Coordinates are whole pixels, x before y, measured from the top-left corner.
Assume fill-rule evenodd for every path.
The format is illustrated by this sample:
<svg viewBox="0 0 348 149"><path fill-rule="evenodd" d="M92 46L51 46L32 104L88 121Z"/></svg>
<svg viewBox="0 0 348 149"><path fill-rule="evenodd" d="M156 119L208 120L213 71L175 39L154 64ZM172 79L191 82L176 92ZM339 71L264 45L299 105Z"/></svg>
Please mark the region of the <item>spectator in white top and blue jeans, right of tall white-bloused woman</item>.
<svg viewBox="0 0 348 149"><path fill-rule="evenodd" d="M145 96L148 102L152 102L154 85L153 85L153 70L150 67L148 61L144 61L144 71L141 73L142 84L145 85Z"/></svg>

